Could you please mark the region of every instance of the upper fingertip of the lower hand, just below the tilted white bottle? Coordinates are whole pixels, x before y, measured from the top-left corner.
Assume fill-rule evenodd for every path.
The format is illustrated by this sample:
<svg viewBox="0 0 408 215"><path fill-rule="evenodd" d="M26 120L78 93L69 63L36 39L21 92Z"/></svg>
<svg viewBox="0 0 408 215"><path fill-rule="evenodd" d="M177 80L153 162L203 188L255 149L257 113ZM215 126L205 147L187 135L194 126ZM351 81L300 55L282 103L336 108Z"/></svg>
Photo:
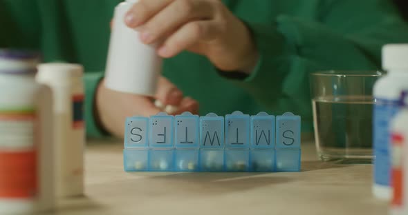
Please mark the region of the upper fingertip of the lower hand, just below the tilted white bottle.
<svg viewBox="0 0 408 215"><path fill-rule="evenodd" d="M156 99L161 101L163 105L179 105L183 99L183 92L178 90L176 85L161 76L158 80Z"/></svg>

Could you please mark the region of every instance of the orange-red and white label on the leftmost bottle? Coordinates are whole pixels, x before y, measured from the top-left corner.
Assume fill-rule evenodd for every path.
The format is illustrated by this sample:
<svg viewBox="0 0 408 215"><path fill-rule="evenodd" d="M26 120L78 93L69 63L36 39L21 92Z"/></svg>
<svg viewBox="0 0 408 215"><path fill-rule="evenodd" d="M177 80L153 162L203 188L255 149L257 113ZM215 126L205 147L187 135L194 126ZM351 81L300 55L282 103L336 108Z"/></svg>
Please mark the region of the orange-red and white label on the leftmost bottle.
<svg viewBox="0 0 408 215"><path fill-rule="evenodd" d="M37 195L36 123L34 109L0 110L0 198Z"/></svg>

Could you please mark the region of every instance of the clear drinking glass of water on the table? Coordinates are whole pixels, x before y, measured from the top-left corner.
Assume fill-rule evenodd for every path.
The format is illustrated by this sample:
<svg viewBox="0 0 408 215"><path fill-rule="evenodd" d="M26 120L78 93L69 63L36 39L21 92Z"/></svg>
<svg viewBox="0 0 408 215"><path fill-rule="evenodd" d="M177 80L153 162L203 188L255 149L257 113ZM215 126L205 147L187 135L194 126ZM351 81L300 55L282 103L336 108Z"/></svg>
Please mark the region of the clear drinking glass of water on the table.
<svg viewBox="0 0 408 215"><path fill-rule="evenodd" d="M384 72L310 74L317 154L322 161L371 163L373 85Z"/></svg>

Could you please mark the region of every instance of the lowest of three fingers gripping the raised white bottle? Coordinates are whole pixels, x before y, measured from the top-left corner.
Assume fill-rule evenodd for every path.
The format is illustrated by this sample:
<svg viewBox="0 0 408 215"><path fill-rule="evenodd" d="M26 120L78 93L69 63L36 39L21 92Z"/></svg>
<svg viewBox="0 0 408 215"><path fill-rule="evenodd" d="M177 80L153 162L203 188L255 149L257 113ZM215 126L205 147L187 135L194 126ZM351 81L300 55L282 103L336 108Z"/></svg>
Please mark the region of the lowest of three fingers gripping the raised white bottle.
<svg viewBox="0 0 408 215"><path fill-rule="evenodd" d="M159 48L161 57L173 57L198 41L211 41L219 35L220 25L214 21L193 21L183 25Z"/></svg>

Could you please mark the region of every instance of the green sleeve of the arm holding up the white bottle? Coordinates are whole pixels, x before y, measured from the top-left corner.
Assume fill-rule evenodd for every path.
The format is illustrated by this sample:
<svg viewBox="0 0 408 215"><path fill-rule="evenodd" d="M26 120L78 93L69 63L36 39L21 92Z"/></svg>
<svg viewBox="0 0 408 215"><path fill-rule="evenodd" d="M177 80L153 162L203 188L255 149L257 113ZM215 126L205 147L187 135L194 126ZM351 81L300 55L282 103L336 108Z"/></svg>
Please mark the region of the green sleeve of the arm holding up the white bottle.
<svg viewBox="0 0 408 215"><path fill-rule="evenodd" d="M236 83L267 110L311 118L310 72L379 70L382 45L408 42L408 25L391 1L324 2L310 7L305 1L297 8L302 14L279 14L273 21L239 15L260 59L252 74Z"/></svg>

